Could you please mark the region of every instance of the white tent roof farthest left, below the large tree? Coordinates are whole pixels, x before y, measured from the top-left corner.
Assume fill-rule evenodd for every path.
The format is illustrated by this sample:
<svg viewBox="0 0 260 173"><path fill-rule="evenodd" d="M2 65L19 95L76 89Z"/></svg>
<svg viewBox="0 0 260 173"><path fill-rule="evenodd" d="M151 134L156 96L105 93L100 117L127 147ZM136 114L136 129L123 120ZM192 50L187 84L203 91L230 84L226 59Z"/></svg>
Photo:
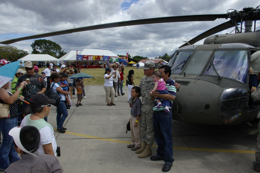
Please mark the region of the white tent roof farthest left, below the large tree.
<svg viewBox="0 0 260 173"><path fill-rule="evenodd" d="M21 61L59 61L59 59L54 58L48 54L28 54L23 58L18 60Z"/></svg>

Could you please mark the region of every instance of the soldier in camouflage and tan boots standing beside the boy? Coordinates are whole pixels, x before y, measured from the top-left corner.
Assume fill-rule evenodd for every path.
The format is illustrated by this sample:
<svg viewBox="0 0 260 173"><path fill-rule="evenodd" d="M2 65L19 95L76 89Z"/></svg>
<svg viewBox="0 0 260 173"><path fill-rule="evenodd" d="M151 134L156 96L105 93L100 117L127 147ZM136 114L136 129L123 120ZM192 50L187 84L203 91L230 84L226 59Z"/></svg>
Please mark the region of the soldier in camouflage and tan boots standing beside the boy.
<svg viewBox="0 0 260 173"><path fill-rule="evenodd" d="M144 77L140 81L139 96L142 96L142 107L140 115L140 127L141 127L141 140L143 141L143 146L136 150L135 153L139 154L139 158L145 158L152 155L151 147L154 142L154 130L153 130L153 100L149 92L154 87L154 82L152 79L152 73L155 70L154 61L148 60L145 62L144 67ZM132 99L129 99L129 106L132 107Z"/></svg>

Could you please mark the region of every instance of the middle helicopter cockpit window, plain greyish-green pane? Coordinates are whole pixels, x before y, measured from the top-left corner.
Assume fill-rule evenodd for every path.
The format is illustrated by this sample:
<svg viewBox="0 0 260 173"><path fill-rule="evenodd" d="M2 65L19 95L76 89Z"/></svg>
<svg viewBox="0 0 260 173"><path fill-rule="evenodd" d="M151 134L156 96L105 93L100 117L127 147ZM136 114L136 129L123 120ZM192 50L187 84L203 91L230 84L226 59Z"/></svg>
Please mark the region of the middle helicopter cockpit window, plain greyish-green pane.
<svg viewBox="0 0 260 173"><path fill-rule="evenodd" d="M200 74L211 53L212 51L196 51L185 69L186 74Z"/></svg>

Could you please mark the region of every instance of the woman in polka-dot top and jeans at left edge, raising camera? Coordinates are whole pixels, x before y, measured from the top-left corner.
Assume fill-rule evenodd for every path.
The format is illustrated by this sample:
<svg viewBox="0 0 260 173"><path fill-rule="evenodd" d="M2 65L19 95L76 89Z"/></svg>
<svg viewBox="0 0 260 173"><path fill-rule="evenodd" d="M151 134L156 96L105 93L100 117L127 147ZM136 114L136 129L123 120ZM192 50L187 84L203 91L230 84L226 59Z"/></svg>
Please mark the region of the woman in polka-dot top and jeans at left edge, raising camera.
<svg viewBox="0 0 260 173"><path fill-rule="evenodd" d="M9 114L6 111L6 117L0 119L0 130L3 134L3 142L0 147L0 170L6 170L6 168L9 167L10 163L13 163L20 159L18 157L18 153L15 151L14 148L14 142L12 136L10 136L8 133L9 131L18 126L17 124L17 116L18 116L18 105L17 105L17 98L20 95L20 91L25 87L26 81L23 81L20 83L18 89L15 91L15 93L9 94L6 89L9 88L9 82L7 82L4 86L0 88L0 105L10 105L9 106ZM24 96L20 96L20 100L24 99ZM4 108L1 108L1 113L4 113L5 111L2 110Z"/></svg>

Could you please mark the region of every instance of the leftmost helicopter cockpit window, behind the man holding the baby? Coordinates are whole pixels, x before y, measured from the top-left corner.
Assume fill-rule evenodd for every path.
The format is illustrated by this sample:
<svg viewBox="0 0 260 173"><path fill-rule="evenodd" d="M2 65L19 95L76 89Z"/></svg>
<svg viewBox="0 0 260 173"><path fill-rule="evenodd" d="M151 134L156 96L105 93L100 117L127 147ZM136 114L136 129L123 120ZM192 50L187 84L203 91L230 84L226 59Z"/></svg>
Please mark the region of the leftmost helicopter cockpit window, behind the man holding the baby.
<svg viewBox="0 0 260 173"><path fill-rule="evenodd" d="M172 73L180 73L185 64L185 60L187 60L191 54L192 51L174 53L171 61L168 63L168 65L172 68Z"/></svg>

